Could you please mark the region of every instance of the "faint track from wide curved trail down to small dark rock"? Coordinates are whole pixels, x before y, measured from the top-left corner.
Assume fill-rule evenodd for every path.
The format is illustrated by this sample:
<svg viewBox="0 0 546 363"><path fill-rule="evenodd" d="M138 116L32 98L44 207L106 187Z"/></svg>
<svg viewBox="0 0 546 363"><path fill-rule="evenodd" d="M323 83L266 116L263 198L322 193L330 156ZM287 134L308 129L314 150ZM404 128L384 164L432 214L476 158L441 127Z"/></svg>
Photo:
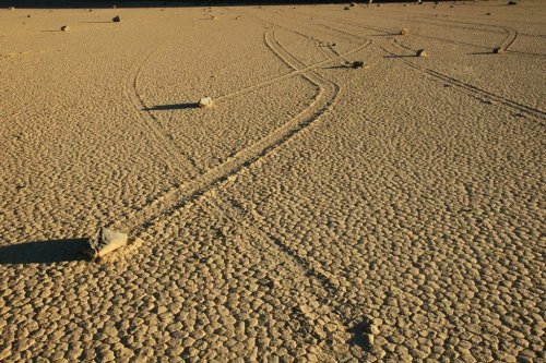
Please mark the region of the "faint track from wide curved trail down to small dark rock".
<svg viewBox="0 0 546 363"><path fill-rule="evenodd" d="M307 279L310 286L297 285L297 280L287 281L299 292L299 299L296 299L301 305L298 310L299 315L304 315L302 322L308 326L308 330L319 341L327 341L322 346L323 352L330 355L334 361L340 358L358 358L364 360L367 355L366 350L369 347L360 348L347 344L349 341L348 328L360 323L369 325L368 317L361 315L363 308L353 305L330 278L329 274L321 270L319 266L313 266L305 257L285 244L281 239L266 232L270 226L265 222L265 217L258 211L246 210L239 203L233 201L229 195L215 194L214 198L205 199L211 207L216 209L234 226L225 233L236 232L248 237L250 246L254 253L264 259L274 257L276 268L287 269L290 276L299 276ZM320 311L314 314L304 310L305 306L320 306ZM320 319L316 316L320 314ZM333 356L332 356L333 355Z"/></svg>

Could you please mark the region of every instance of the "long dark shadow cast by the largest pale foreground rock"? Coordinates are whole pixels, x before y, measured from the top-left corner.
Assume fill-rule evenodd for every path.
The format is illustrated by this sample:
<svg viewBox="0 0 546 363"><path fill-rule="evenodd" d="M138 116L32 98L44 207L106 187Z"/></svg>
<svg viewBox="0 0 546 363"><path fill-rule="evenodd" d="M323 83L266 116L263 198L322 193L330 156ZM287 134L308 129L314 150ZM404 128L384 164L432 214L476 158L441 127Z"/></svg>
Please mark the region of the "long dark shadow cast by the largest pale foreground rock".
<svg viewBox="0 0 546 363"><path fill-rule="evenodd" d="M0 265L54 264L88 259L88 238L45 240L0 246Z"/></svg>

